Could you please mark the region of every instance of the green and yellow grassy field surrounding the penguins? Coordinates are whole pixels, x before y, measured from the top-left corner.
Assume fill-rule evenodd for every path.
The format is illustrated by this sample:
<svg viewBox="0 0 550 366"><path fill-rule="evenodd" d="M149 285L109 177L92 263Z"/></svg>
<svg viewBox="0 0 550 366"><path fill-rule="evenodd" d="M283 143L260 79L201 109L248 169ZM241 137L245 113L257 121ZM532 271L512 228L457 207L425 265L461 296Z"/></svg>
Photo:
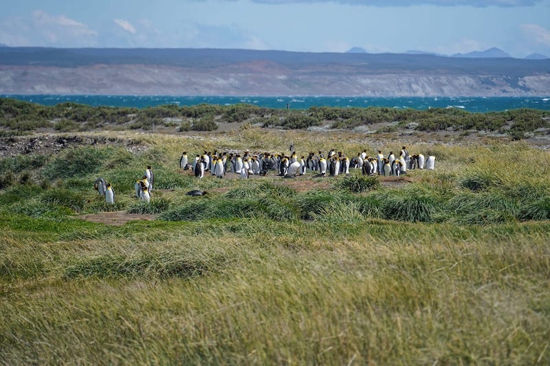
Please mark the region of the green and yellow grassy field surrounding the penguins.
<svg viewBox="0 0 550 366"><path fill-rule="evenodd" d="M0 159L0 364L550 364L547 150L250 126L124 136ZM178 166L183 150L289 141L350 157L405 144L436 169L373 183ZM146 165L150 204L132 196ZM155 220L83 220L114 212Z"/></svg>

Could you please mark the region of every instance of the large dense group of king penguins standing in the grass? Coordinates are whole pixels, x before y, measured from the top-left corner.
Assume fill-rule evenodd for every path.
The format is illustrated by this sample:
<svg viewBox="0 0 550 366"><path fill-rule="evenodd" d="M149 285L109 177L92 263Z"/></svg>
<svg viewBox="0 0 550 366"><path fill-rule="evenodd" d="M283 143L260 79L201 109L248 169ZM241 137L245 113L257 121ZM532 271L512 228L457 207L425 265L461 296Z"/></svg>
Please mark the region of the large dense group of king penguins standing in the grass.
<svg viewBox="0 0 550 366"><path fill-rule="evenodd" d="M309 152L305 157L298 157L291 145L290 153L273 154L270 152L251 153L249 150L240 152L206 152L197 154L190 159L184 151L179 159L179 168L192 170L198 179L206 174L223 178L226 172L238 174L241 179L257 174L265 176L275 172L278 176L293 178L297 175L305 175L307 171L316 176L338 176L349 174L350 169L361 169L365 175L401 176L408 169L434 170L435 157L417 153L409 155L405 146L399 151L399 155L389 152L387 157L378 150L377 155L369 156L366 150L359 152L356 157L349 158L342 151L329 150L327 155L320 150L318 153Z"/></svg>

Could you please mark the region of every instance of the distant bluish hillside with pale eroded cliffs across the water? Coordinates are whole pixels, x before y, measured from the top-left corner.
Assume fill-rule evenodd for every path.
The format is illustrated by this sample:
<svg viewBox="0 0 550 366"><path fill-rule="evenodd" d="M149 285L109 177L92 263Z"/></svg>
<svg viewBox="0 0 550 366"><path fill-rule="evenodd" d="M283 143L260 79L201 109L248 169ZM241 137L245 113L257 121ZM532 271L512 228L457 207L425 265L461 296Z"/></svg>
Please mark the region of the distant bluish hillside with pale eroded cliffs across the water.
<svg viewBox="0 0 550 366"><path fill-rule="evenodd" d="M0 80L1 94L550 95L550 60L0 47Z"/></svg>

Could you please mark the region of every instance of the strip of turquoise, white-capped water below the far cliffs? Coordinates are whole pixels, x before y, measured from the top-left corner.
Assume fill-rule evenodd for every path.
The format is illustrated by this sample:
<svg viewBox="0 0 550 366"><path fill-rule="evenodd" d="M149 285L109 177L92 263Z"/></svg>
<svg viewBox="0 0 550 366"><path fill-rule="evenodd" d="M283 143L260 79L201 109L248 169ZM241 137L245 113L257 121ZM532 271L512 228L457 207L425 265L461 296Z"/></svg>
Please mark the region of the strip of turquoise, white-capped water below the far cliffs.
<svg viewBox="0 0 550 366"><path fill-rule="evenodd" d="M0 95L47 106L63 102L88 104L91 106L128 106L146 108L163 104L192 106L201 103L231 105L254 104L267 108L305 109L310 106L369 107L389 108L461 108L470 112L506 111L518 108L534 108L550 111L548 97L457 97L457 98L367 98L367 97L227 97L227 96L173 96L173 95Z"/></svg>

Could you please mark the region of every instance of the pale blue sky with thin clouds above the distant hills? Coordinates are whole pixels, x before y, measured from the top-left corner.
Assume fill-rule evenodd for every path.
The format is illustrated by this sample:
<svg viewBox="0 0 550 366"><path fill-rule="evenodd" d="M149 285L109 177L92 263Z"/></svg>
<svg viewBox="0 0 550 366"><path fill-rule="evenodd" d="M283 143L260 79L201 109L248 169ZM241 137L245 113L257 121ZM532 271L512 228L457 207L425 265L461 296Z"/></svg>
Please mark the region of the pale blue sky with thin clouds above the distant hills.
<svg viewBox="0 0 550 366"><path fill-rule="evenodd" d="M19 0L1 9L8 46L550 56L550 0Z"/></svg>

